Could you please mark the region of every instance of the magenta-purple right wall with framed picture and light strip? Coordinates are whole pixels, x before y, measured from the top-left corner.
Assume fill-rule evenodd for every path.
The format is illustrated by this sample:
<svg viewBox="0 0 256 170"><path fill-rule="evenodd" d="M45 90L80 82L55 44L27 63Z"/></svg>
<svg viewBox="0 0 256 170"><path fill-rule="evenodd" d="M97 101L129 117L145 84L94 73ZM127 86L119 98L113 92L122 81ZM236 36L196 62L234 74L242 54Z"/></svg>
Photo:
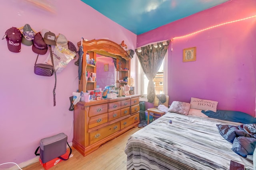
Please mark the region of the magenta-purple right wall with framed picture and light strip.
<svg viewBox="0 0 256 170"><path fill-rule="evenodd" d="M232 0L138 35L137 47L255 15L255 0ZM183 63L182 51L190 47L196 47L196 61ZM172 48L166 69L170 104L196 97L255 116L256 17L174 39Z"/></svg>

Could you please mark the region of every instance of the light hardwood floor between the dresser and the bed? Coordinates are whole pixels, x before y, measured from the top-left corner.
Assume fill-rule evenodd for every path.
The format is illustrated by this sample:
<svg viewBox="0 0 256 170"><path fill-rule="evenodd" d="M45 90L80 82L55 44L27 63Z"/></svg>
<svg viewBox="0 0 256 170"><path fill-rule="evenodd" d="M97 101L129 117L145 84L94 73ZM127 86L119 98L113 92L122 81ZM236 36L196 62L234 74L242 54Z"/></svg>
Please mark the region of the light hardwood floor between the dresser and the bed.
<svg viewBox="0 0 256 170"><path fill-rule="evenodd" d="M124 149L128 137L140 128L134 127L119 137L104 143L88 156L82 156L72 147L73 157L56 164L49 170L126 170L126 154ZM22 170L44 170L40 162L29 165Z"/></svg>

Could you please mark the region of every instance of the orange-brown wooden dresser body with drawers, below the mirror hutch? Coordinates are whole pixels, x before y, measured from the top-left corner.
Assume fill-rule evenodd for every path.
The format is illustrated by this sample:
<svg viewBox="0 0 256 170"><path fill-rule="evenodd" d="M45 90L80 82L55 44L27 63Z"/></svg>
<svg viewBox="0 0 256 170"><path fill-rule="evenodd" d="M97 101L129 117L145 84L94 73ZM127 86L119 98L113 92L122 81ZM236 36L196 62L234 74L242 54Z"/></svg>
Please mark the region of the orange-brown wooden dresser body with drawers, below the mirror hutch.
<svg viewBox="0 0 256 170"><path fill-rule="evenodd" d="M78 102L74 107L73 147L83 156L139 122L139 96Z"/></svg>

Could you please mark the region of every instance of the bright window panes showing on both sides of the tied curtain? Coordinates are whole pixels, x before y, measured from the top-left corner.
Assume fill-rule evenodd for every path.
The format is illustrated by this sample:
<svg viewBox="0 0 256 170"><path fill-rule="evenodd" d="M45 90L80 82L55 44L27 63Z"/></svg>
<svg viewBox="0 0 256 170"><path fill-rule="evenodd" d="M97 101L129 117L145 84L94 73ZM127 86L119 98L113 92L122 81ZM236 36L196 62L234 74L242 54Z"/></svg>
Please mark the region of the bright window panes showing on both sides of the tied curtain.
<svg viewBox="0 0 256 170"><path fill-rule="evenodd" d="M164 57L163 63L160 66L158 73L156 74L154 78L154 85L156 94L165 94L167 93L167 70L164 70L164 68L167 68L168 63L168 52L166 52L166 55ZM139 94L141 94L141 98L147 98L148 93L148 78L144 74L140 62L138 61L138 91Z"/></svg>

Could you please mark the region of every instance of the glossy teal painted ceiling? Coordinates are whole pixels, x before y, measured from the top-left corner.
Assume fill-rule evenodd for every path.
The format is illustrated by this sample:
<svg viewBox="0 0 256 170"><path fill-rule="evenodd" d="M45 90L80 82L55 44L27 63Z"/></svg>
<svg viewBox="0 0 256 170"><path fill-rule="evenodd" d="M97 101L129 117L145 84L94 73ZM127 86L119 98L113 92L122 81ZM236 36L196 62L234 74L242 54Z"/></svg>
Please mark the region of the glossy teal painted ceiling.
<svg viewBox="0 0 256 170"><path fill-rule="evenodd" d="M229 0L81 0L140 35Z"/></svg>

